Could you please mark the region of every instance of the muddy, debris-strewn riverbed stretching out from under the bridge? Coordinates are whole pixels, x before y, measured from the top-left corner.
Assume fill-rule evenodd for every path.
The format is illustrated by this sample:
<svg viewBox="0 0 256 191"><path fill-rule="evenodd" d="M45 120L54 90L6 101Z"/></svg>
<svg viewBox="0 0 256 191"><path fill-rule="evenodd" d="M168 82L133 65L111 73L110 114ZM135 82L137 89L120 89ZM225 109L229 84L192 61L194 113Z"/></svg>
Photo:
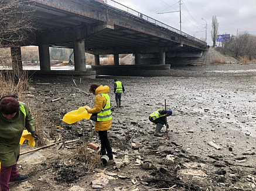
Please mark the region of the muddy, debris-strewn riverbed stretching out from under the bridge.
<svg viewBox="0 0 256 191"><path fill-rule="evenodd" d="M256 64L187 65L172 68L170 77L118 77L126 90L120 108L114 78L73 78L77 86L72 77L33 78L35 91L28 97L50 116L49 139L80 141L22 155L19 172L30 178L10 190L255 190ZM74 89L88 92L92 83L110 86L113 116L109 139L115 158L99 167L101 174L70 158L81 142L100 145L90 121L62 121L66 112L93 106L93 95ZM51 102L55 98L62 99ZM165 99L173 110L169 139L165 127L163 137L153 136L148 120ZM21 152L26 150L23 145ZM92 180L99 178L104 187L93 189Z"/></svg>

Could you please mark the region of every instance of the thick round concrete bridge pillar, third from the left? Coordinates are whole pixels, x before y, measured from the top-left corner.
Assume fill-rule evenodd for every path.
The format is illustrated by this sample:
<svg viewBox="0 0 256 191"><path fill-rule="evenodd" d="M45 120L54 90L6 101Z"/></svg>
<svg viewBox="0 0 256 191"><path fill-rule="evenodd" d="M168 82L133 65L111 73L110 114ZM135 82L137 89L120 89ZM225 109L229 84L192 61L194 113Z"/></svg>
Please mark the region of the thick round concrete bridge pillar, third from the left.
<svg viewBox="0 0 256 191"><path fill-rule="evenodd" d="M86 52L84 49L84 40L74 41L74 70L86 71Z"/></svg>

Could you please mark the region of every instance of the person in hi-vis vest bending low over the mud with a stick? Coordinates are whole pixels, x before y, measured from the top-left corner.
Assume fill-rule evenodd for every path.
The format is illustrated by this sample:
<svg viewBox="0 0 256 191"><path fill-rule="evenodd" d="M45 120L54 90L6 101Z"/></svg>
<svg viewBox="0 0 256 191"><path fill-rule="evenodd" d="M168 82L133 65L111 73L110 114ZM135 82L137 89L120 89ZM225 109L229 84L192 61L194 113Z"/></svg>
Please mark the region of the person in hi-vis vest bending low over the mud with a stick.
<svg viewBox="0 0 256 191"><path fill-rule="evenodd" d="M153 112L149 115L149 121L151 121L154 125L156 124L156 130L154 133L154 136L156 137L162 137L163 135L160 133L163 125L167 126L167 118L166 116L171 116L172 110L168 109L167 111L165 109L158 109L156 112Z"/></svg>

